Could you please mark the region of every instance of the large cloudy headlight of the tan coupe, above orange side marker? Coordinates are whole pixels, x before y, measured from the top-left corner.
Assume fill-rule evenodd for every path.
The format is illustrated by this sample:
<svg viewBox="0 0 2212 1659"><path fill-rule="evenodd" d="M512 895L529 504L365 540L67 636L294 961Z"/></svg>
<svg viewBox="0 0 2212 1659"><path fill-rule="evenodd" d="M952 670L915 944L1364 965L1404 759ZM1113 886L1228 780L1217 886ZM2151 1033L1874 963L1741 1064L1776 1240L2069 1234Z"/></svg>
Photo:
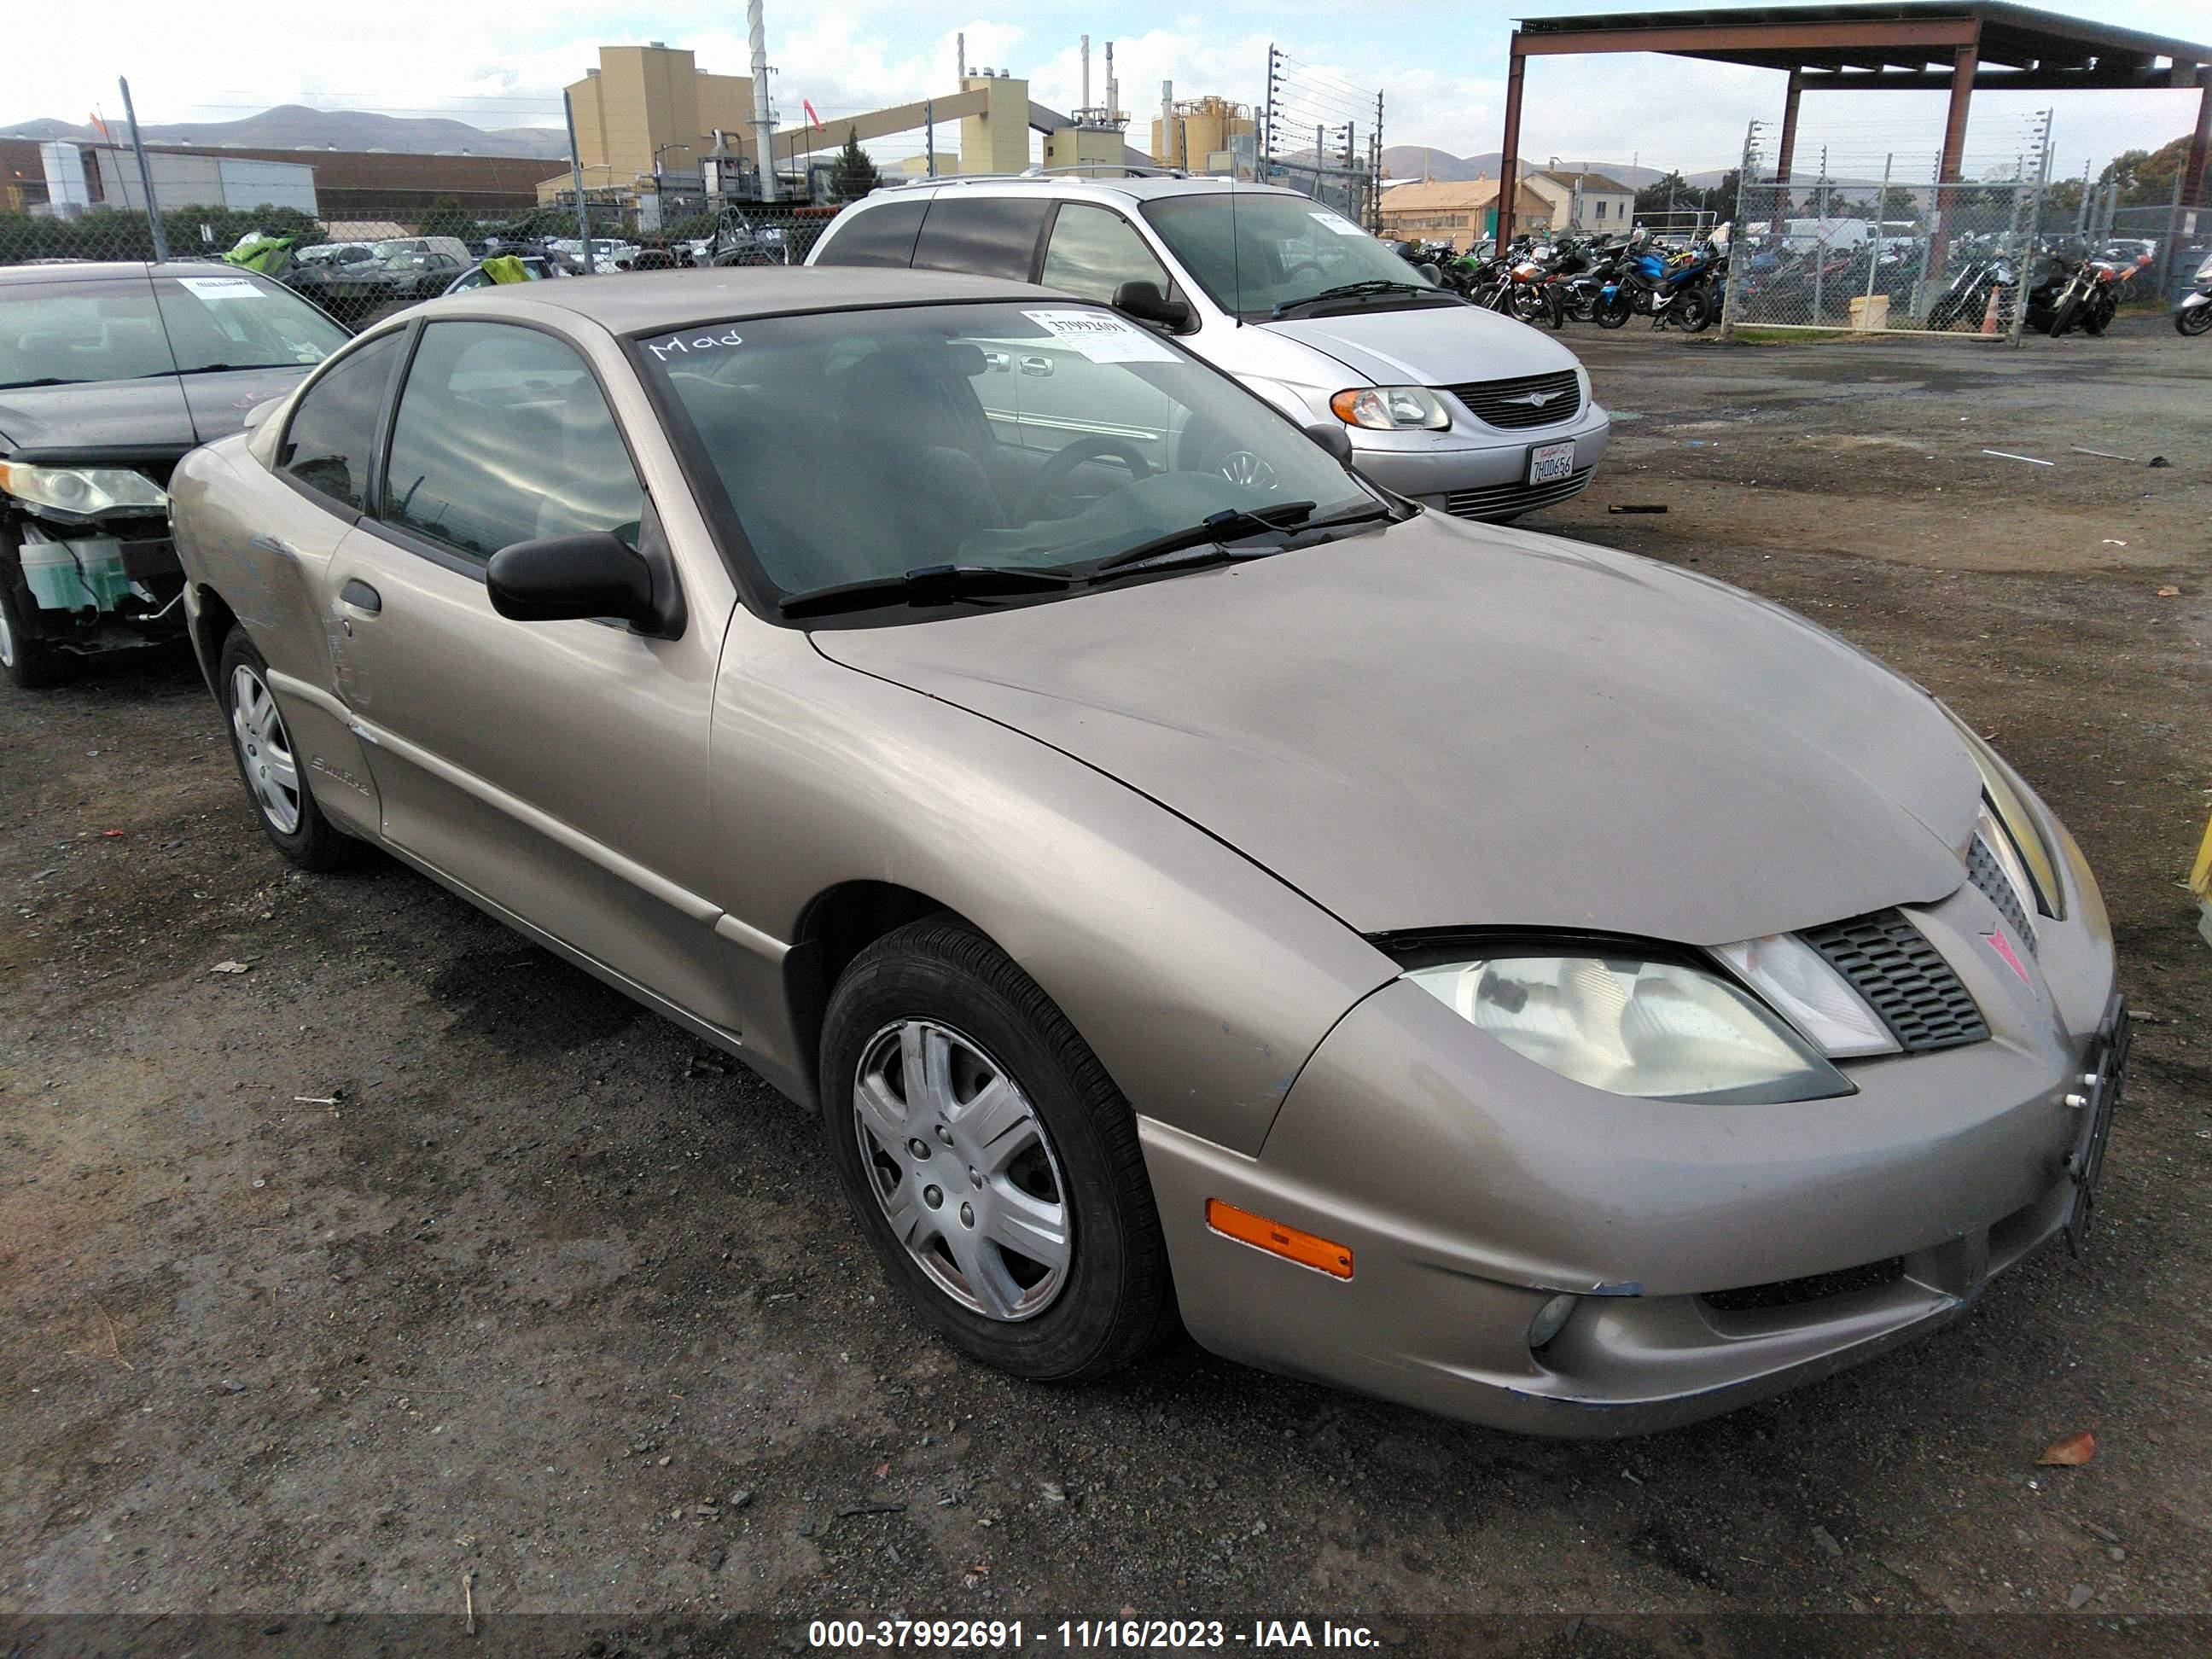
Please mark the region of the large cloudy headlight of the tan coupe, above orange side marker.
<svg viewBox="0 0 2212 1659"><path fill-rule="evenodd" d="M1679 962L1495 956L1407 978L1517 1055L1608 1095L1725 1104L1851 1093L1747 991Z"/></svg>

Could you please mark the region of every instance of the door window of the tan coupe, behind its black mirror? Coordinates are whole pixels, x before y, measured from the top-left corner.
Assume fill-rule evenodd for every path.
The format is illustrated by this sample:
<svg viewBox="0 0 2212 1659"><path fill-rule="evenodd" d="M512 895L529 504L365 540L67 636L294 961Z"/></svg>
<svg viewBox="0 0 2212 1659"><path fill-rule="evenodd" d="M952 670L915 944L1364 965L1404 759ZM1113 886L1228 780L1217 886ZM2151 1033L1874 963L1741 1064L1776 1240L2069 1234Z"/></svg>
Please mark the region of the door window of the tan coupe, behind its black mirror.
<svg viewBox="0 0 2212 1659"><path fill-rule="evenodd" d="M422 330L392 422L387 522L484 562L540 535L613 531L635 546L644 500L568 345L511 323Z"/></svg>

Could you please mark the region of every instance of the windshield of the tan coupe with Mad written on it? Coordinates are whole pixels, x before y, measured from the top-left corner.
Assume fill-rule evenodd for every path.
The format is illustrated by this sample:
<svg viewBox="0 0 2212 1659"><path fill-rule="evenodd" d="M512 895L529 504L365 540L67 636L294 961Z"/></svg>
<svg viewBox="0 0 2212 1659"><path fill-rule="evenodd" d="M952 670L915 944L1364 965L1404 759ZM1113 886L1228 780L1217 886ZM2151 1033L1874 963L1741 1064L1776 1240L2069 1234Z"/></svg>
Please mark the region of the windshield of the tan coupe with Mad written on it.
<svg viewBox="0 0 2212 1659"><path fill-rule="evenodd" d="M1290 420L1104 307L763 316L635 349L779 597L931 566L1088 575L1183 533L1281 544L1252 511L1314 529L1385 511ZM1219 538L1201 529L1223 513Z"/></svg>

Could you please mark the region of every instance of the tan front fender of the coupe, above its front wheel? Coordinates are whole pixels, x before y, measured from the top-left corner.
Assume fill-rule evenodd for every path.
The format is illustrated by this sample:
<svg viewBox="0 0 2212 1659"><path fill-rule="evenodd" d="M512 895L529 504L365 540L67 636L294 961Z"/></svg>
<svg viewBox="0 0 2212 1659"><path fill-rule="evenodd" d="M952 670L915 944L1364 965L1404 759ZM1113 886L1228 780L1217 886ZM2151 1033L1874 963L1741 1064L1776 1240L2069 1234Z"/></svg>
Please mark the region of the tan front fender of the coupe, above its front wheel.
<svg viewBox="0 0 2212 1659"><path fill-rule="evenodd" d="M891 883L987 931L1133 1106L1256 1152L1307 1055L1394 967L1343 922L1128 785L739 617L712 737L726 909L765 940L843 883ZM743 953L763 1071L805 1037Z"/></svg>

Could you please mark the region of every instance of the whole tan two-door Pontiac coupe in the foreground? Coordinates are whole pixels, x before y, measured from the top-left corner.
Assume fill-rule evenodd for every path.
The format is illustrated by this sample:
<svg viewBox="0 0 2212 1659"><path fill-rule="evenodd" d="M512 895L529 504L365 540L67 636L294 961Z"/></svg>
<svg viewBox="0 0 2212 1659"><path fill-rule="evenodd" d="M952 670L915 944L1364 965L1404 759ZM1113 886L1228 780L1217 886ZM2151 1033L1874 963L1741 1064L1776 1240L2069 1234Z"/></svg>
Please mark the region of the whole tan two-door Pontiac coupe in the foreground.
<svg viewBox="0 0 2212 1659"><path fill-rule="evenodd" d="M2079 1243L2128 1024L2020 776L1765 599L1307 427L1029 283L500 285L192 451L175 522L270 841L812 1102L887 1283L1015 1376L1179 1314L1635 1433Z"/></svg>

